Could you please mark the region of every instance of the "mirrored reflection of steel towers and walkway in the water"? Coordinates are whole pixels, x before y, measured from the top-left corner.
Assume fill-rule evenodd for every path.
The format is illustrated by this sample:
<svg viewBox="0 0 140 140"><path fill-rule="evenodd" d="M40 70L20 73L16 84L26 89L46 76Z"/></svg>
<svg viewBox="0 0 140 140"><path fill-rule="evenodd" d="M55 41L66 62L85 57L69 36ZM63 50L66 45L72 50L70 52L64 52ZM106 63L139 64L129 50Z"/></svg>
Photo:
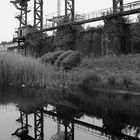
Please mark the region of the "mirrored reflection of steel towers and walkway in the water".
<svg viewBox="0 0 140 140"><path fill-rule="evenodd" d="M30 127L32 127L28 121L29 114L34 114L34 136L29 135ZM99 127L94 124L77 120L75 118L66 118L62 114L58 114L55 109L50 109L48 107L38 108L32 111L32 113L20 110L20 117L16 121L21 124L21 127L18 128L12 135L16 135L17 137L26 140L45 140L45 118L51 119L52 121L64 127L64 140L75 140L75 129L106 140L112 140L113 137L124 140L139 140L137 137L107 130L104 127ZM60 130L58 130L58 133L59 132ZM52 139L53 137L55 137L55 135L52 136Z"/></svg>

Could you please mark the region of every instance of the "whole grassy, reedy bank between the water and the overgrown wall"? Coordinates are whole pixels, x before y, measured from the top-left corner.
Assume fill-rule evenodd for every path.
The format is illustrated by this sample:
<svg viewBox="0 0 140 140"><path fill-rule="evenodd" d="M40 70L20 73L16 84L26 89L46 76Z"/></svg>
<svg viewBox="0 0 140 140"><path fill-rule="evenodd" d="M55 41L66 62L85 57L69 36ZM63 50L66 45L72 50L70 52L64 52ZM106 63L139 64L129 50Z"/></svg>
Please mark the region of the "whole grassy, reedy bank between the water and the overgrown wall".
<svg viewBox="0 0 140 140"><path fill-rule="evenodd" d="M44 65L37 59L0 53L0 84L83 90L111 89L140 91L140 55L83 58L81 65L69 72Z"/></svg>

